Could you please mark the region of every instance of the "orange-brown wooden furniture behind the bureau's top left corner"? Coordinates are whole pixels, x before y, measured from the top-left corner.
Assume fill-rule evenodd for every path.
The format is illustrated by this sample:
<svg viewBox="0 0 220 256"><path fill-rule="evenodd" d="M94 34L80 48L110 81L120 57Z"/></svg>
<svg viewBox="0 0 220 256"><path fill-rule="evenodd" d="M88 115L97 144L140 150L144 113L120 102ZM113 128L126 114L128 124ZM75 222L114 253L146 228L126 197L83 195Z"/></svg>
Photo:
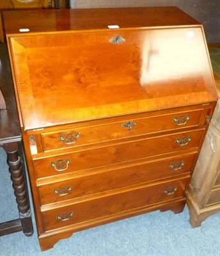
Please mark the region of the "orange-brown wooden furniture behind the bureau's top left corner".
<svg viewBox="0 0 220 256"><path fill-rule="evenodd" d="M4 10L70 8L70 0L4 0L0 1L0 42L5 42L1 13Z"/></svg>

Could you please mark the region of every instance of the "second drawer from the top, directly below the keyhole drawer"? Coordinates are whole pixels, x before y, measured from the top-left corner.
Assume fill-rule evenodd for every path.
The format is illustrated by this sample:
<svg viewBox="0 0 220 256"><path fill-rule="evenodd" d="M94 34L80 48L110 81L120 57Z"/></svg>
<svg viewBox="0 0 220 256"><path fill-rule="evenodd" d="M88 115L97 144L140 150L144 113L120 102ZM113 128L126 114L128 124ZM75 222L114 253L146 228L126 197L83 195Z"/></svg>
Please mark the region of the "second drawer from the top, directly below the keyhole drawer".
<svg viewBox="0 0 220 256"><path fill-rule="evenodd" d="M203 130L182 132L35 159L36 178L61 175L196 148L200 145L202 134Z"/></svg>

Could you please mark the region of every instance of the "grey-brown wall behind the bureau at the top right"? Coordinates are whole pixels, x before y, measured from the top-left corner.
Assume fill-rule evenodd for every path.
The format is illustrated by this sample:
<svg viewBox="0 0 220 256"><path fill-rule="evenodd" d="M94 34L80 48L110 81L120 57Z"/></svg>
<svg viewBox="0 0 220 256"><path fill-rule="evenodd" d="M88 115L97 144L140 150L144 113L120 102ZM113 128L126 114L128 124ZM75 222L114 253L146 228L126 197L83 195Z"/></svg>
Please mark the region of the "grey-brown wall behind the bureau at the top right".
<svg viewBox="0 0 220 256"><path fill-rule="evenodd" d="M220 42L220 0L71 0L71 8L177 6L203 24L208 43Z"/></svg>

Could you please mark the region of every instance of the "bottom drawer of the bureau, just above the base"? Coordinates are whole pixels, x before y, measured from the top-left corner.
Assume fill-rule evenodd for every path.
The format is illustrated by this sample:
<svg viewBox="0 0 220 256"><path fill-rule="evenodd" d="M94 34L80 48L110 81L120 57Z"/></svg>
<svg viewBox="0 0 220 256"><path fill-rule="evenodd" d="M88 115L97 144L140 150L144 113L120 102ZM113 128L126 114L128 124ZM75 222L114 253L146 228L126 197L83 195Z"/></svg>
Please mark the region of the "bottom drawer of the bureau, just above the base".
<svg viewBox="0 0 220 256"><path fill-rule="evenodd" d="M147 208L184 196L189 177L42 211L45 231Z"/></svg>

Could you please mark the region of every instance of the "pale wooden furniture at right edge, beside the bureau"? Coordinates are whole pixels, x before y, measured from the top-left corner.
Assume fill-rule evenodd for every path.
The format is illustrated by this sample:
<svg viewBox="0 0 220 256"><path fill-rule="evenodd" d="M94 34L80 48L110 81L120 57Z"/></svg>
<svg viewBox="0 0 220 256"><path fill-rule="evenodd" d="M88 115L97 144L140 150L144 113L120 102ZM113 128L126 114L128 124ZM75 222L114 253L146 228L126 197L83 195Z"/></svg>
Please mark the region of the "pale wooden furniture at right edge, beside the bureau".
<svg viewBox="0 0 220 256"><path fill-rule="evenodd" d="M210 46L210 58L213 59L220 99L220 45ZM220 100L217 101L186 195L192 227L200 226L208 216L220 211Z"/></svg>

